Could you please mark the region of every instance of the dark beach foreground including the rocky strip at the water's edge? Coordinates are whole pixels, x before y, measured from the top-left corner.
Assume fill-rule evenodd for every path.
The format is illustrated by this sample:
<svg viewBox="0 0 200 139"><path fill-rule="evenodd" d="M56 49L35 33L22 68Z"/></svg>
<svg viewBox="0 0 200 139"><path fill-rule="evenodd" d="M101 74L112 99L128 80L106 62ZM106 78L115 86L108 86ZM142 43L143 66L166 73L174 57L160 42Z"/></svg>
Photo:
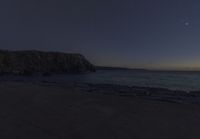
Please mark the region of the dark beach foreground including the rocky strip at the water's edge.
<svg viewBox="0 0 200 139"><path fill-rule="evenodd" d="M200 138L198 102L129 89L2 82L0 139Z"/></svg>

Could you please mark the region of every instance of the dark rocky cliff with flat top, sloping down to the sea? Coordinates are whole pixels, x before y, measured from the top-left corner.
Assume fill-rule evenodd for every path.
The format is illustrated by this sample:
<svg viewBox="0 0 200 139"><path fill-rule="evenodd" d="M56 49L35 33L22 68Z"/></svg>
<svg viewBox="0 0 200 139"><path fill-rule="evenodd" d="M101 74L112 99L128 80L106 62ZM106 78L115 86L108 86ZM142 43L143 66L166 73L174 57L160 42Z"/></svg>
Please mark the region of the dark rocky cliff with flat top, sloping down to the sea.
<svg viewBox="0 0 200 139"><path fill-rule="evenodd" d="M67 73L95 71L80 54L0 50L0 73Z"/></svg>

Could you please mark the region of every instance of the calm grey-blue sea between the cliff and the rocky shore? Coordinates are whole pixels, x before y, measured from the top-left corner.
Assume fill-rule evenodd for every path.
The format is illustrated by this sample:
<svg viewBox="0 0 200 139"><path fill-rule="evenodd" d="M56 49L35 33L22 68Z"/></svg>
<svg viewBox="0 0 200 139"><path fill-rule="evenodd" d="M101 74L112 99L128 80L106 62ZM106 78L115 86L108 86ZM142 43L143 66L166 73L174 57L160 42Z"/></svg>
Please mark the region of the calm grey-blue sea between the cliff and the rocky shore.
<svg viewBox="0 0 200 139"><path fill-rule="evenodd" d="M50 77L2 76L1 80L53 81L120 84L128 86L161 87L178 90L200 90L200 72L147 72L134 70L99 70L87 74L65 74Z"/></svg>

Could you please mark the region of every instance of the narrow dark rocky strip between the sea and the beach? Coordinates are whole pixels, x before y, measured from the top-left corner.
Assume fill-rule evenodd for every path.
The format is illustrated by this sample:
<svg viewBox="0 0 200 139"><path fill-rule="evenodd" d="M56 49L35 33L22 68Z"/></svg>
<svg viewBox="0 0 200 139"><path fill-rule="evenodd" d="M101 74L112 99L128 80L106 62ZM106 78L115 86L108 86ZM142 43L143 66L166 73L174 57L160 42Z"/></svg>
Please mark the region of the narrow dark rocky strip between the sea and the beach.
<svg viewBox="0 0 200 139"><path fill-rule="evenodd" d="M118 84L92 84L92 83L59 83L51 81L0 81L8 83L27 83L39 86L60 87L60 88L76 88L85 93L102 94L102 95L117 95L122 97L137 97L142 99L149 99L155 101L166 101L171 103L191 103L200 104L200 90L183 91L171 90L167 88L156 87L139 87L126 86Z"/></svg>

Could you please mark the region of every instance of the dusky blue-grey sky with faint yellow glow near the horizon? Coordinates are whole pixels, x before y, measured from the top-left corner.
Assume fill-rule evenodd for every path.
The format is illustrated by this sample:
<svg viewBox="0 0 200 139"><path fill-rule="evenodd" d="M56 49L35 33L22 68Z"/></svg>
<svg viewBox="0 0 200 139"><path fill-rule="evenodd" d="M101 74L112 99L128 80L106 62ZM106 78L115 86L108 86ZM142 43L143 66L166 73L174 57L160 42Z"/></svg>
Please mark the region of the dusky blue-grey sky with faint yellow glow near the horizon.
<svg viewBox="0 0 200 139"><path fill-rule="evenodd" d="M200 69L200 1L4 0L0 49L81 53L101 66Z"/></svg>

